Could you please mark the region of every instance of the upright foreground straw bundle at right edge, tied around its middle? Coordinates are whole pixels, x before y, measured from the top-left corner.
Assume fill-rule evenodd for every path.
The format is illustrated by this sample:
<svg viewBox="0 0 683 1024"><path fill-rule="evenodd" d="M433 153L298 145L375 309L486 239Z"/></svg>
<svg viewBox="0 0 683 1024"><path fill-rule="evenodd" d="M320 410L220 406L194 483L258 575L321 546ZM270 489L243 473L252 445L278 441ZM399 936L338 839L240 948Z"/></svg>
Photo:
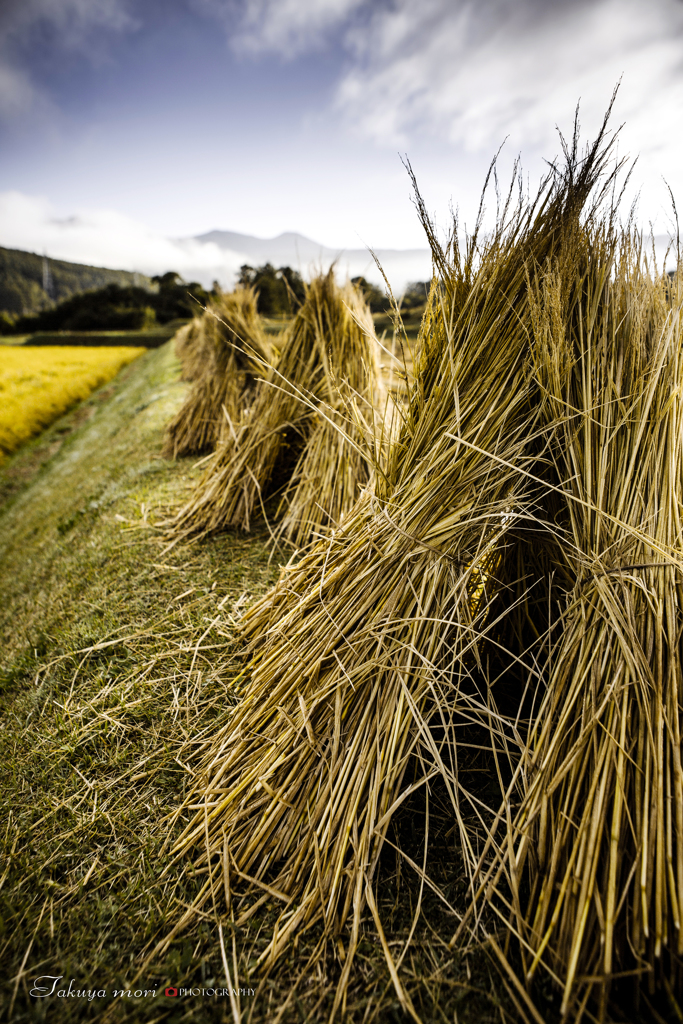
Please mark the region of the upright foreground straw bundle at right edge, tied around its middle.
<svg viewBox="0 0 683 1024"><path fill-rule="evenodd" d="M608 228L583 248L533 304L559 425L550 561L570 583L502 910L527 980L544 965L572 1021L589 999L605 1019L614 977L646 974L653 991L658 966L668 984L683 953L683 289L629 234L616 255Z"/></svg>

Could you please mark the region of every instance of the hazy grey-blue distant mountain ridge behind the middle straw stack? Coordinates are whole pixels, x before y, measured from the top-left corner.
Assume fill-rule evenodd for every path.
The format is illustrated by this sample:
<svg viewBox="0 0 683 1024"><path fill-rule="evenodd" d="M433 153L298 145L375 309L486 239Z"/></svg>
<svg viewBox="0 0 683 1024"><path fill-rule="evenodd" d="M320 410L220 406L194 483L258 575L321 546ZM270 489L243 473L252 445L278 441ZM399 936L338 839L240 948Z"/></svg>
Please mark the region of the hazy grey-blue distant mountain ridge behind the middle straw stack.
<svg viewBox="0 0 683 1024"><path fill-rule="evenodd" d="M207 231L194 242L212 243L230 256L232 262L272 263L291 266L304 278L321 267L327 269L337 261L340 274L354 278L364 274L381 284L381 275L367 249L332 249L296 231L285 231L274 239L258 239L239 231ZM431 276L431 256L428 249L378 249L377 258L397 291L409 282L427 281Z"/></svg>

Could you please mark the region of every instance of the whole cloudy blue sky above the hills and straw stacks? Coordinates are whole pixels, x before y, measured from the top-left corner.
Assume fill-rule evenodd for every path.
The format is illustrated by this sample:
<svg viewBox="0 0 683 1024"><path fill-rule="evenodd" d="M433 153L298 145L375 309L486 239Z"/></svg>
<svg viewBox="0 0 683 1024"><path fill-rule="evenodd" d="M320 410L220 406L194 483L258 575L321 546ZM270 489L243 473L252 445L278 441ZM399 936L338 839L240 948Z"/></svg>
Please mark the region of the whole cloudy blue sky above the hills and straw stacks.
<svg viewBox="0 0 683 1024"><path fill-rule="evenodd" d="M682 38L681 0L3 0L0 244L139 269L216 227L421 246L399 154L439 223L471 219L506 137L503 173L519 153L535 182L620 78L663 231Z"/></svg>

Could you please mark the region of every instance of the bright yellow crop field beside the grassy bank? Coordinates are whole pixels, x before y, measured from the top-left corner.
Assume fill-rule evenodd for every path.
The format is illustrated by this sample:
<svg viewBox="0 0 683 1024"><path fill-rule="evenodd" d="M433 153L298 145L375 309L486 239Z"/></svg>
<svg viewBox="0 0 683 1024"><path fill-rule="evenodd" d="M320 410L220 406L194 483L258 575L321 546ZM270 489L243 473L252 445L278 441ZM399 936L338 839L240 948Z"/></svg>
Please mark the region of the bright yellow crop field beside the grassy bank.
<svg viewBox="0 0 683 1024"><path fill-rule="evenodd" d="M0 348L0 459L87 398L144 348Z"/></svg>

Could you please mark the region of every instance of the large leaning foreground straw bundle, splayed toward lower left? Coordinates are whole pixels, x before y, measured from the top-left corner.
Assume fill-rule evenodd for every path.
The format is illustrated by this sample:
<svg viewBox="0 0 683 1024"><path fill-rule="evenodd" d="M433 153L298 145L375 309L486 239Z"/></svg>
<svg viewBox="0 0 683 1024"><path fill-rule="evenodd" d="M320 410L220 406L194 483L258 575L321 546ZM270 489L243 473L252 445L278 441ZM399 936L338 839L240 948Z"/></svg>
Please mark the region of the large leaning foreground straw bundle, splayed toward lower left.
<svg viewBox="0 0 683 1024"><path fill-rule="evenodd" d="M436 771L470 866L477 862L457 762L442 757L430 726L447 734L454 715L480 715L473 675L493 573L513 513L530 502L524 467L538 459L526 267L575 231L608 152L604 126L584 160L574 134L563 172L533 202L521 191L515 208L508 200L494 237L478 248L475 231L465 253L457 231L440 249L419 200L439 284L401 435L375 494L243 621L249 682L229 728L207 744L198 811L177 849L203 844L214 893L229 869L283 900L266 965L305 925L323 919L326 935L339 935L352 911L336 1006L367 901L411 1009L373 874L392 814ZM416 752L427 767L399 797Z"/></svg>

